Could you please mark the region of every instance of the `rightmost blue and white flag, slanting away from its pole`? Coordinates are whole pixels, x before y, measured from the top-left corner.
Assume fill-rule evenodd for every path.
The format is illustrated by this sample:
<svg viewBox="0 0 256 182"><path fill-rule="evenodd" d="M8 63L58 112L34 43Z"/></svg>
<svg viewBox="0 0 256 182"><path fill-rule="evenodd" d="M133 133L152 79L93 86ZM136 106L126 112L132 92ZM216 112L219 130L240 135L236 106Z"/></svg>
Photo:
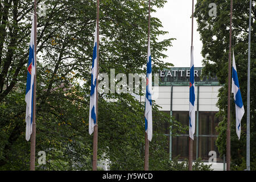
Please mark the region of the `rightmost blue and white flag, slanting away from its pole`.
<svg viewBox="0 0 256 182"><path fill-rule="evenodd" d="M233 65L232 65L232 93L234 93L234 102L236 104L236 130L238 139L240 139L241 135L241 119L243 114L245 114L245 109L243 108L243 101L240 92L240 86L238 82L238 75L237 75L237 67L236 61L234 58L234 51L233 51Z"/></svg>

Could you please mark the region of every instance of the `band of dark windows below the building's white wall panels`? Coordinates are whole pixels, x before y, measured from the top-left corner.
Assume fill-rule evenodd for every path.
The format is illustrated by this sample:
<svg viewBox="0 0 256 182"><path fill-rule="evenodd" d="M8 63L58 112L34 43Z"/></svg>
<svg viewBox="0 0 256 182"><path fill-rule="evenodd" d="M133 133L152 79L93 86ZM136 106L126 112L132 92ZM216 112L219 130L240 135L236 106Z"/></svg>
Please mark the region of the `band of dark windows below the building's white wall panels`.
<svg viewBox="0 0 256 182"><path fill-rule="evenodd" d="M196 113L197 114L197 113ZM196 137L196 131L193 140L193 160L196 160L196 154L204 162L208 162L210 151L216 151L217 162L223 162L220 158L218 148L216 146L216 139L218 133L216 126L220 121L216 117L217 112L200 111L199 112L199 137ZM189 112L188 111L173 111L173 117L179 121L183 126L188 125ZM197 127L197 126L196 126ZM199 142L197 142L197 139ZM188 159L189 146L188 133L178 133L177 136L172 137L172 158L179 156L180 160Z"/></svg>

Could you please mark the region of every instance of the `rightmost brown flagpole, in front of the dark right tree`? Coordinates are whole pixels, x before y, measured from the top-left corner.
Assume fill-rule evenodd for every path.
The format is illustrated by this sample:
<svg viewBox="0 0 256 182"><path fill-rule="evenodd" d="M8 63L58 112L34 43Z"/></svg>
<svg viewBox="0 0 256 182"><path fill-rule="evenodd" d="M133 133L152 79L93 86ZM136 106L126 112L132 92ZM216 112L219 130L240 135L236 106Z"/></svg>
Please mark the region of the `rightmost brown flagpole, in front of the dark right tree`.
<svg viewBox="0 0 256 182"><path fill-rule="evenodd" d="M231 51L232 51L233 0L230 2L229 63L228 63L228 126L226 130L226 169L230 171L230 99L231 99Z"/></svg>

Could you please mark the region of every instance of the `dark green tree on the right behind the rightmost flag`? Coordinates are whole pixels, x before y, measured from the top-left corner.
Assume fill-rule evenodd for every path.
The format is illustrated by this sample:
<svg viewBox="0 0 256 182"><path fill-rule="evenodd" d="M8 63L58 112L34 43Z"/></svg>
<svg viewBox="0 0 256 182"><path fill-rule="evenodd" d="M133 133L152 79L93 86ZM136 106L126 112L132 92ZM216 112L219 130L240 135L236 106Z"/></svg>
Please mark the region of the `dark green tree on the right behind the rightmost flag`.
<svg viewBox="0 0 256 182"><path fill-rule="evenodd" d="M209 16L208 11L210 3L216 3L217 16ZM251 19L251 81L255 80L256 64L256 1L253 1L253 11ZM241 139L236 135L236 112L232 98L232 122L231 122L231 157L232 169L245 169L246 158L246 96L247 96L247 53L248 53L248 30L249 30L249 1L233 1L233 36L232 47L236 57L238 79L242 94L245 115L242 118ZM219 115L223 120L219 123L217 131L219 132L216 145L221 155L226 153L226 123L227 123L227 96L228 96L228 55L229 55L229 17L230 1L208 1L200 0L196 3L195 17L199 23L201 41L203 42L202 55L204 74L216 74L220 84L224 85L218 94L217 106L220 109ZM252 82L251 82L252 83ZM251 169L255 170L255 114L256 114L256 86L251 84L250 88L250 160ZM242 167L243 166L243 167Z"/></svg>

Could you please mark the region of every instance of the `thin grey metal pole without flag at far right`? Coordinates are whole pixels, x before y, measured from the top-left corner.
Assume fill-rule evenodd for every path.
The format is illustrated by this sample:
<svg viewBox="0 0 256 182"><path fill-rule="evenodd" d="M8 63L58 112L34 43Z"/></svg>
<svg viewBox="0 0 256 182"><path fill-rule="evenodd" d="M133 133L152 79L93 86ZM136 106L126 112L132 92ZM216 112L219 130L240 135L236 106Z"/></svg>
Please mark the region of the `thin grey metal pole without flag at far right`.
<svg viewBox="0 0 256 182"><path fill-rule="evenodd" d="M247 123L246 123L246 168L250 171L250 67L251 67L251 0L249 15L249 46L248 46L248 71L247 71Z"/></svg>

